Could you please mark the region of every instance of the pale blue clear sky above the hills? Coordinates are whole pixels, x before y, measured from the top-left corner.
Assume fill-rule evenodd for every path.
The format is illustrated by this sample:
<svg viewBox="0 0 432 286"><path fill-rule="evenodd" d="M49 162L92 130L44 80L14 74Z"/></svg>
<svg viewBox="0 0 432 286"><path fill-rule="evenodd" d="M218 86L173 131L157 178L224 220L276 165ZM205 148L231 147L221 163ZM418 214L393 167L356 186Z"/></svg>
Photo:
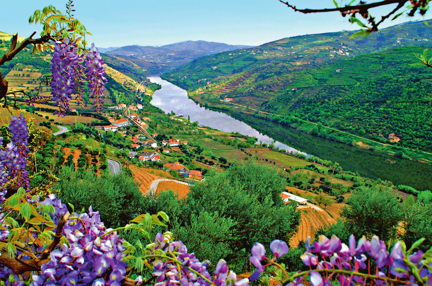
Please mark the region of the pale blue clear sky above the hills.
<svg viewBox="0 0 432 286"><path fill-rule="evenodd" d="M299 8L334 7L332 0L289 2ZM18 32L24 37L40 32L40 25L29 25L29 16L50 4L65 10L65 1L59 0L5 1L1 4L0 31ZM278 0L76 0L74 4L75 17L93 34L88 42L98 47L164 45L187 40L259 45L290 36L359 28L340 13L295 13ZM375 12L381 16L384 10L376 8ZM425 19L430 15L426 13ZM383 27L409 20L401 16L384 22Z"/></svg>

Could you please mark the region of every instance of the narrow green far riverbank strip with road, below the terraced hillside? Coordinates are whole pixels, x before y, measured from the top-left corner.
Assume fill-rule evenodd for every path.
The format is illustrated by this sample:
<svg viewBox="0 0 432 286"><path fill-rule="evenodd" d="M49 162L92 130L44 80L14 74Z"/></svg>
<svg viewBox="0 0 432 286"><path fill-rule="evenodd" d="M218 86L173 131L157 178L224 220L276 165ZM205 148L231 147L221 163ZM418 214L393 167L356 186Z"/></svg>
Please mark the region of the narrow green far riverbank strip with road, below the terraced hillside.
<svg viewBox="0 0 432 286"><path fill-rule="evenodd" d="M342 130L324 126L321 123L314 123L295 116L280 116L274 113L267 113L260 110L255 110L250 107L245 107L234 103L221 103L220 105L208 105L198 101L194 95L188 92L188 97L196 104L200 104L210 110L221 110L222 112L239 112L255 118L264 119L276 123L280 123L297 131L305 132L314 136L318 136L330 141L340 142L356 148L368 149L370 151L387 154L394 157L399 157L407 160L413 160L419 163L432 163L432 154L425 151L417 151L409 148L399 147L395 145L385 144L369 138L354 135ZM233 108L230 108L232 106ZM245 110L246 109L246 110ZM251 112L250 110L253 110Z"/></svg>

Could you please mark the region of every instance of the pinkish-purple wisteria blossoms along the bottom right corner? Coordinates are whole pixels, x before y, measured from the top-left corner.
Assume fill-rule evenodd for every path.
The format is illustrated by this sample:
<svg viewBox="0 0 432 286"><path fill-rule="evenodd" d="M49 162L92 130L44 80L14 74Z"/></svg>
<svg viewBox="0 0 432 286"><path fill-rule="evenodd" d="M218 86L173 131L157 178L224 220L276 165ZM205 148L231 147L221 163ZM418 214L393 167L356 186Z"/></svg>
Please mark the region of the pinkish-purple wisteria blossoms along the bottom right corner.
<svg viewBox="0 0 432 286"><path fill-rule="evenodd" d="M432 254L430 251L413 253L423 240L415 242L408 251L405 243L399 241L389 253L385 243L378 236L373 236L370 241L363 236L356 243L352 235L349 238L349 245L341 243L337 236L332 236L331 239L320 236L318 241L310 245L309 237L306 241L306 251L301 258L310 270L289 277L286 275L280 278L280 282L284 286L298 286L302 285L304 278L309 275L311 286L331 286L333 280L337 280L341 286L364 286L366 283L377 286L430 285L432 267L429 264L432 263ZM273 262L274 259L265 258L264 253L265 249L261 245L255 244L252 248L251 262L260 273L264 269L260 263L258 264L258 259L267 259L270 264L276 264ZM375 265L372 269L371 263ZM286 274L285 270L284 273Z"/></svg>

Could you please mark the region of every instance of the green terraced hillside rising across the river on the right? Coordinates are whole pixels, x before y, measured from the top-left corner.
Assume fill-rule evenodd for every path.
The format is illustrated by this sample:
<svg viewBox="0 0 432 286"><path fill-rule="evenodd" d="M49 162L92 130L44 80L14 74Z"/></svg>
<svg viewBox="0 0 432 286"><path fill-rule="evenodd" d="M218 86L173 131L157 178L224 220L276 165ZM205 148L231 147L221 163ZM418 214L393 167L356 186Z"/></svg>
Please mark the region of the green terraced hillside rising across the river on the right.
<svg viewBox="0 0 432 286"><path fill-rule="evenodd" d="M267 113L432 151L427 116L432 69L419 65L413 54L432 45L432 30L423 22L410 22L362 41L349 40L352 33L298 36L219 53L162 77L208 106L232 108L221 101L229 97ZM389 133L396 133L400 142L388 141Z"/></svg>

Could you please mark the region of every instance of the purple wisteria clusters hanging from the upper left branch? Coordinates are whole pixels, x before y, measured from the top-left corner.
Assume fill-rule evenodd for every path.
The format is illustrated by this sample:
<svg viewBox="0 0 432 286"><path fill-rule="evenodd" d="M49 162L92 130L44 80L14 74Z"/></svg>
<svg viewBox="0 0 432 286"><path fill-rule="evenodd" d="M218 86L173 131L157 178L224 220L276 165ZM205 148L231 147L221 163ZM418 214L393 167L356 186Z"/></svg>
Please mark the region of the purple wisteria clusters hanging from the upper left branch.
<svg viewBox="0 0 432 286"><path fill-rule="evenodd" d="M73 95L76 95L78 102L84 105L84 79L89 82L90 97L95 98L92 104L95 105L96 111L102 111L103 91L107 81L103 64L102 57L94 44L87 55L84 55L79 53L76 41L64 38L63 41L54 42L50 82L51 100L58 107L54 114L65 116Z"/></svg>

